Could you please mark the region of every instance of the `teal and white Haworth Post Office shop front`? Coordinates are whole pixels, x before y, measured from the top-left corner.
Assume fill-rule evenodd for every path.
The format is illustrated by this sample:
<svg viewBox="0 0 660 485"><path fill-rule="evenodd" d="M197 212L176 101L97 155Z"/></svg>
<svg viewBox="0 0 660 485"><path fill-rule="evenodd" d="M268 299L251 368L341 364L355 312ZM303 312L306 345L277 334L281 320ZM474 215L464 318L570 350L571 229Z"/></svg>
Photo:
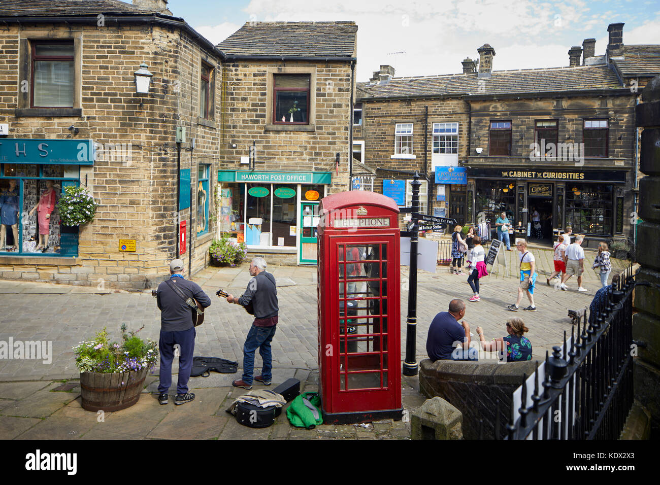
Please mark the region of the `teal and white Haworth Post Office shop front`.
<svg viewBox="0 0 660 485"><path fill-rule="evenodd" d="M332 172L218 171L218 237L230 234L252 253L290 255L315 265L315 208Z"/></svg>

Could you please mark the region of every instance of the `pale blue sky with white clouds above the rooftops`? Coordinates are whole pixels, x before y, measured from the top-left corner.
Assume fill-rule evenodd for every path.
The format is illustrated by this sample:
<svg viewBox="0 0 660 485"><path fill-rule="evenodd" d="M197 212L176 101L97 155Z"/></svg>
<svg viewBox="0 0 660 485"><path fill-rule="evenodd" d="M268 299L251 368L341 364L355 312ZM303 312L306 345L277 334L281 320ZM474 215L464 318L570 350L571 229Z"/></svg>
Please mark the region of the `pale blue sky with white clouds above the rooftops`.
<svg viewBox="0 0 660 485"><path fill-rule="evenodd" d="M353 20L358 26L357 81L381 64L396 77L457 74L477 48L495 49L494 71L568 66L568 49L624 22L623 42L660 44L660 0L170 0L214 44L249 21Z"/></svg>

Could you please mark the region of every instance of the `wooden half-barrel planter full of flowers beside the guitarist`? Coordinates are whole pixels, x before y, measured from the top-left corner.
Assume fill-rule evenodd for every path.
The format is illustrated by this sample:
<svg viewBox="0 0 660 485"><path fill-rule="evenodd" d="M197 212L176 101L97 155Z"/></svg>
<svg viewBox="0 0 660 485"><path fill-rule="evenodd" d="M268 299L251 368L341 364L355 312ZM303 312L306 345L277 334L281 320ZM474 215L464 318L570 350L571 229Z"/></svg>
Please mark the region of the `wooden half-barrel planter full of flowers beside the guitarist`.
<svg viewBox="0 0 660 485"><path fill-rule="evenodd" d="M92 340L73 347L81 373L82 408L118 411L137 403L147 372L158 362L158 342L127 332L121 324L121 343L111 342L104 328Z"/></svg>

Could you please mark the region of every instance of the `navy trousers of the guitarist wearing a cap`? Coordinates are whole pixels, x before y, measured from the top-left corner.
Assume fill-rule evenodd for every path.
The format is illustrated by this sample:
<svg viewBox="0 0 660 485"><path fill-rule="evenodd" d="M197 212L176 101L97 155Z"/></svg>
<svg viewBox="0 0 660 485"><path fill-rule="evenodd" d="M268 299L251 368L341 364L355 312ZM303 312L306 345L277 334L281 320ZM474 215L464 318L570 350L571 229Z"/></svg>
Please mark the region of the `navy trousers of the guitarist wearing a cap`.
<svg viewBox="0 0 660 485"><path fill-rule="evenodd" d="M160 385L159 393L166 393L172 384L172 359L174 346L180 345L179 379L176 383L177 394L188 392L190 370L193 368L193 352L195 351L195 327L181 332L164 332L160 330L158 350L160 351Z"/></svg>

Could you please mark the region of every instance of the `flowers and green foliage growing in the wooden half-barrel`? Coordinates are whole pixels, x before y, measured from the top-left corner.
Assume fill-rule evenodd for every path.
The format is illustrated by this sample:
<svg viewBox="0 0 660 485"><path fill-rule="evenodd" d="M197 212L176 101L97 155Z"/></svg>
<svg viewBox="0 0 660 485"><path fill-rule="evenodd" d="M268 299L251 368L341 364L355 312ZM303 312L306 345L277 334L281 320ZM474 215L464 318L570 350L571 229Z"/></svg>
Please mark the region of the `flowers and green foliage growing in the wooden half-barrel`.
<svg viewBox="0 0 660 485"><path fill-rule="evenodd" d="M131 372L151 368L158 362L158 342L143 340L135 335L141 331L126 331L121 324L122 343L111 342L104 328L92 340L80 342L73 347L76 354L76 367L80 372Z"/></svg>

